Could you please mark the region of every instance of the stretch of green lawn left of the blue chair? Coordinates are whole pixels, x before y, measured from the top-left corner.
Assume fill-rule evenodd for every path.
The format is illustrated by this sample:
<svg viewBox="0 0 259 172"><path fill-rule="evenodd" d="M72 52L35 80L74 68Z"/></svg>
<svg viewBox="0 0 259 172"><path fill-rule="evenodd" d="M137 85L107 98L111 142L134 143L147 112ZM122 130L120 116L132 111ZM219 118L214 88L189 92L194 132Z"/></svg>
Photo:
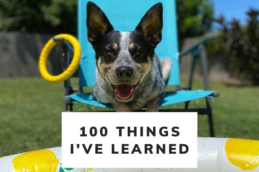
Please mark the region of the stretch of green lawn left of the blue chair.
<svg viewBox="0 0 259 172"><path fill-rule="evenodd" d="M62 83L0 79L0 157L61 145Z"/></svg>

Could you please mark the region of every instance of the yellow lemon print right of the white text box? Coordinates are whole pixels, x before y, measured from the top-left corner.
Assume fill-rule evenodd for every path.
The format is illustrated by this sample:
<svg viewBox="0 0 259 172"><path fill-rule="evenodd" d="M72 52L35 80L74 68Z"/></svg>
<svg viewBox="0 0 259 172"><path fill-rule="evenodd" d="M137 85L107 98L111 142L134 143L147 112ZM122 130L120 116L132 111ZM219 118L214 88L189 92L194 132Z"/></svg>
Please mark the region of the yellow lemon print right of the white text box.
<svg viewBox="0 0 259 172"><path fill-rule="evenodd" d="M225 151L229 161L242 170L253 170L259 166L259 141L228 139Z"/></svg>

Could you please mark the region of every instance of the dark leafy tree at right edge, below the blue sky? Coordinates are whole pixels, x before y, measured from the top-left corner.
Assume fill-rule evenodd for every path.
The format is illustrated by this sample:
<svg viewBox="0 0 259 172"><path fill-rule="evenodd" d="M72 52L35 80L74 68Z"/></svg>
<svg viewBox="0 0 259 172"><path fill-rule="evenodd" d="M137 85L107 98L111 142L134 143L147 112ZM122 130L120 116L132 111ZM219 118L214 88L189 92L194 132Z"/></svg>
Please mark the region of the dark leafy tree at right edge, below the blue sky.
<svg viewBox="0 0 259 172"><path fill-rule="evenodd" d="M241 25L236 19L229 23L223 16L216 21L222 25L222 47L236 75L242 80L250 80L253 85L259 85L259 11L250 9L247 15L247 25Z"/></svg>

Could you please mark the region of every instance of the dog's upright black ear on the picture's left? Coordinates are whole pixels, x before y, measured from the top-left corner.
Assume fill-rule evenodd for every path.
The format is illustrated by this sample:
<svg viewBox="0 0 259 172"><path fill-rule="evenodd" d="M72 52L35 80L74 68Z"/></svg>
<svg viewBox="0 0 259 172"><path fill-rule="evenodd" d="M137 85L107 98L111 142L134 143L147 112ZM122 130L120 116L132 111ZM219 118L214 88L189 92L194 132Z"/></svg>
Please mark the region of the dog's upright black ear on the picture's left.
<svg viewBox="0 0 259 172"><path fill-rule="evenodd" d="M88 41L92 44L101 40L108 32L113 30L103 11L93 2L88 2L86 5L86 26Z"/></svg>

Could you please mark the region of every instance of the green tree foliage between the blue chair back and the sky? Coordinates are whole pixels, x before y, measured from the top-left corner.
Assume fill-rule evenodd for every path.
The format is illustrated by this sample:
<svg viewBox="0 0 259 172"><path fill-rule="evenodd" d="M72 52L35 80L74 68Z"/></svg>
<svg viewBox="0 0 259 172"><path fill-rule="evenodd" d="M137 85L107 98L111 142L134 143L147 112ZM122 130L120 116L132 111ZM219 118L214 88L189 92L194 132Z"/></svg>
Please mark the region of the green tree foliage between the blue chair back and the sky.
<svg viewBox="0 0 259 172"><path fill-rule="evenodd" d="M199 36L211 29L211 0L176 0L179 40Z"/></svg>

